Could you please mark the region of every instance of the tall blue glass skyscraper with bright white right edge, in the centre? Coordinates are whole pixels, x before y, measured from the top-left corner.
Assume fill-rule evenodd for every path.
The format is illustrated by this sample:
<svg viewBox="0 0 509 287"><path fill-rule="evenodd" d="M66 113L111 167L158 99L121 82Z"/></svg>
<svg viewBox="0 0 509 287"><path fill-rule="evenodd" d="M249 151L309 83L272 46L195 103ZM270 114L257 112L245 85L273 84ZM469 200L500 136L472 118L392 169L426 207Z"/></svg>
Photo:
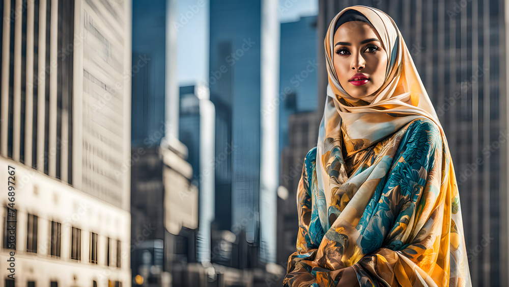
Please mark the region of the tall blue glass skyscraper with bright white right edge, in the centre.
<svg viewBox="0 0 509 287"><path fill-rule="evenodd" d="M278 38L276 2L210 3L210 99L216 107L215 226L275 261ZM214 230L213 230L214 231ZM258 253L258 251L256 252ZM255 262L257 259L251 259Z"/></svg>

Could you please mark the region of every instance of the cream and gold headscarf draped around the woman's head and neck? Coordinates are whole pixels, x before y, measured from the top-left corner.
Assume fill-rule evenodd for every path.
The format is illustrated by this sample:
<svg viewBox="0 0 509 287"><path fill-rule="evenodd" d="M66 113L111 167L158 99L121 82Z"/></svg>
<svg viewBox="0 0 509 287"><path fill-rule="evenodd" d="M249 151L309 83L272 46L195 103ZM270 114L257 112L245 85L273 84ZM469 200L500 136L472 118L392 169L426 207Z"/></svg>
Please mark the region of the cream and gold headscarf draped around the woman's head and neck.
<svg viewBox="0 0 509 287"><path fill-rule="evenodd" d="M351 97L341 87L334 70L332 62L334 25L347 10L357 10L371 22L387 54L385 81L371 103ZM355 25L354 22L345 24ZM359 150L398 131L413 119L425 117L437 124L445 143L446 139L410 51L397 25L387 14L366 6L345 8L331 21L324 45L328 85L317 144L317 166L319 166L317 176L323 179L318 180L318 187L323 190L327 206L330 206L331 190L338 187L336 181L341 185L347 178L331 178L326 172L326 166L330 165L330 161L324 163L322 160L327 152L334 148L341 149L342 136L345 137L345 145L349 152Z"/></svg>

